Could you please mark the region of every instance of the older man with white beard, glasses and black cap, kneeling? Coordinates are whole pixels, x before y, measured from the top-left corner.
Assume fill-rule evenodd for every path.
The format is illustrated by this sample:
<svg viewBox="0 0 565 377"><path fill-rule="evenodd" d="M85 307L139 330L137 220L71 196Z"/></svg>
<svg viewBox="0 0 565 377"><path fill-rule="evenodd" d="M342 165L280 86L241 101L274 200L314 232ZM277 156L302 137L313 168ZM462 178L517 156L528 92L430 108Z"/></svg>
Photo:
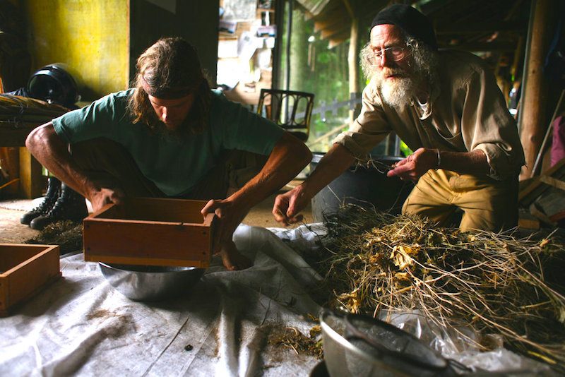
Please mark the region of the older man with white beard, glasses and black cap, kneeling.
<svg viewBox="0 0 565 377"><path fill-rule="evenodd" d="M276 198L275 219L299 221L299 211L321 188L394 131L415 150L387 173L417 181L403 213L447 225L460 208L461 229L515 227L523 148L482 59L438 52L429 20L396 4L374 18L362 65L371 81L361 114L306 181Z"/></svg>

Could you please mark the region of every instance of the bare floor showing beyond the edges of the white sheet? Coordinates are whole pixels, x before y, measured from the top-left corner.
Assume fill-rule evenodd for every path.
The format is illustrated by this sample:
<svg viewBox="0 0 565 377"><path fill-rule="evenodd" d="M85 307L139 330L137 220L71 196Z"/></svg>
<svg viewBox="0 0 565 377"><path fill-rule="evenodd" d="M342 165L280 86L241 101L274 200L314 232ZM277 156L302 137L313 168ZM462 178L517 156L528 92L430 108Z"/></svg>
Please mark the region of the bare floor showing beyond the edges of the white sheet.
<svg viewBox="0 0 565 377"><path fill-rule="evenodd" d="M244 224L256 227L282 227L275 222L271 214L274 201L275 195L256 205L245 217ZM18 244L38 233L27 225L20 224L21 215L33 208L35 203L31 200L0 201L0 243ZM310 208L304 211L304 216L307 222L313 221Z"/></svg>

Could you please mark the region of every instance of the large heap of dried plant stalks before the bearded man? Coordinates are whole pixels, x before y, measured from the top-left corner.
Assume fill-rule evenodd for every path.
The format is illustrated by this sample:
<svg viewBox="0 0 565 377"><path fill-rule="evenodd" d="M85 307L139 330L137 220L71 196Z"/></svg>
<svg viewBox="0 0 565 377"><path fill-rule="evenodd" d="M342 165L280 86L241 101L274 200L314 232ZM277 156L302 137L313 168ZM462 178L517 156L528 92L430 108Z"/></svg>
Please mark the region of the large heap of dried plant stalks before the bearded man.
<svg viewBox="0 0 565 377"><path fill-rule="evenodd" d="M418 310L440 328L499 334L506 347L565 365L565 251L555 237L460 232L354 205L326 227L325 248L309 258L330 306L371 316Z"/></svg>

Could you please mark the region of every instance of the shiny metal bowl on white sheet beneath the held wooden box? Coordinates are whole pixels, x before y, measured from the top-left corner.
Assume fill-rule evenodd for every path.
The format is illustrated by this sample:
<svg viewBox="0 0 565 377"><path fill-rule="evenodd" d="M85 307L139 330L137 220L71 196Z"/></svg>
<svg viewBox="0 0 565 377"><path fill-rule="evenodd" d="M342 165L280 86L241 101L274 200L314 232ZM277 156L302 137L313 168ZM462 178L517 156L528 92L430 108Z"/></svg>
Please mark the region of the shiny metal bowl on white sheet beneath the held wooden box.
<svg viewBox="0 0 565 377"><path fill-rule="evenodd" d="M203 268L153 265L98 266L109 285L133 301L161 301L189 292L204 274Z"/></svg>

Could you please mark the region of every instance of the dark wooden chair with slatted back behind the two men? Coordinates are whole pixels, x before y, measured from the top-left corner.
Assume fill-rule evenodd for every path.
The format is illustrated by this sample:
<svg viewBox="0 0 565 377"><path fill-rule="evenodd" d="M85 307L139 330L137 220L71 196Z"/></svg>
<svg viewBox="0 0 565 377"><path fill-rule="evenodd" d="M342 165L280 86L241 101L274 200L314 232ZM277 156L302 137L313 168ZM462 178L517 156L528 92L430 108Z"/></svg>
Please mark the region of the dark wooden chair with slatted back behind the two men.
<svg viewBox="0 0 565 377"><path fill-rule="evenodd" d="M257 114L274 121L302 141L308 140L314 93L261 89Z"/></svg>

